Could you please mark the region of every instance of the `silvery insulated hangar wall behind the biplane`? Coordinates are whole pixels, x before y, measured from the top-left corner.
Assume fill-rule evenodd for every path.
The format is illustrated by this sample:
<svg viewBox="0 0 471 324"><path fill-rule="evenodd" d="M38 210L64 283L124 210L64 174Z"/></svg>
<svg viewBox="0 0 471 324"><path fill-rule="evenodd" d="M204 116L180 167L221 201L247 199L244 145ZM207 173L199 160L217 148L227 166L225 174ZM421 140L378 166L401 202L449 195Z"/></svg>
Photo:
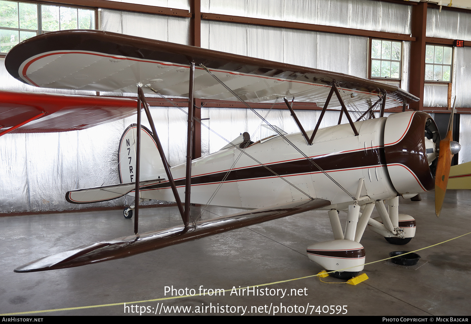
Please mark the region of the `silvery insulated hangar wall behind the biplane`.
<svg viewBox="0 0 471 324"><path fill-rule="evenodd" d="M149 0L147 2L139 0L138 2L168 8L189 8L186 0ZM343 0L296 0L293 3L293 1L284 0L259 0L228 3L222 0L203 0L201 11L310 24L330 24L383 32L411 33L411 6L409 5L373 0L350 0L347 2L348 5L344 6L345 2ZM102 9L100 15L102 30L182 44L189 43L190 18L111 9ZM433 26L434 33L448 28L441 23L434 23ZM429 28L427 33L429 33ZM411 45L409 41L402 43L401 87L408 90ZM203 20L201 45L220 51L338 71L361 78L367 77L368 38L364 36ZM468 48L461 50L462 52L456 52L457 63L455 65L463 65L470 61L470 56L466 56ZM27 86L11 78L5 71L3 62L1 63L0 88L2 89L94 94ZM466 87L470 80L466 71L462 70L454 75L456 79L463 81L463 85L459 87ZM459 89L461 88L457 88L456 91ZM430 87L427 98L435 100L434 104L442 104L440 90L440 88ZM134 94L101 93L100 95L133 96ZM468 103L471 104L471 98L463 99L463 105ZM263 115L267 112L267 110L260 111ZM319 111L302 111L298 113L298 117L305 128L309 129L314 127L318 114ZM186 116L174 107L153 107L152 115L171 165L184 162ZM243 131L249 131L252 138L259 139L265 131L263 129L260 131L260 121L252 116L252 112L245 109L203 107L202 118L210 118L204 123L229 141ZM336 124L337 119L338 112L328 112L321 126ZM287 111L269 111L268 120L287 132L297 131ZM2 174L0 177L2 188L8 188L8 190L0 191L0 213L70 210L91 206L130 204L132 198L128 201L122 198L92 205L71 205L65 202L64 195L67 190L119 182L117 146L125 127L134 122L135 118L129 118L75 132L1 136L0 172ZM463 127L471 124L471 119L463 118L462 123ZM143 124L146 126L146 123ZM219 150L225 145L219 135L202 128L203 155ZM460 153L460 160L462 160L461 157L471 160L471 150L464 150L464 152L467 153L463 155Z"/></svg>

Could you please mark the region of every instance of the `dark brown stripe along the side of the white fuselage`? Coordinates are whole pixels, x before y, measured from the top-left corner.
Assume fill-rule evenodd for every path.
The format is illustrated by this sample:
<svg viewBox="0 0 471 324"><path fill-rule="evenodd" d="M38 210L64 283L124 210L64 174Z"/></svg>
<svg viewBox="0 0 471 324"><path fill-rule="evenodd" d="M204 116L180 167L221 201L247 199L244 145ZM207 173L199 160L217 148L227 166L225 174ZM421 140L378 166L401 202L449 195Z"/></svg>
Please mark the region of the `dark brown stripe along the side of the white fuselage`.
<svg viewBox="0 0 471 324"><path fill-rule="evenodd" d="M351 169L367 166L380 166L384 165L384 149L383 148L374 148L369 150L359 150L354 152L342 153L337 155L324 155L320 157L311 158L322 170L331 171L339 169ZM314 172L320 172L316 166L314 166L307 159L288 161L284 163L272 164L267 166L270 170L276 172L281 176L291 175L291 174L308 174ZM221 182L226 176L227 171L207 174L201 176L195 176L191 178L191 184L204 184L204 183L213 183ZM267 170L265 166L254 166L245 169L232 170L227 175L225 182L229 181L239 181L239 180L248 180L248 179L258 179L273 177L275 174ZM175 181L176 186L184 186L185 179L180 179ZM153 186L146 187L146 190L149 189L163 189L170 188L168 182L163 182L155 184Z"/></svg>

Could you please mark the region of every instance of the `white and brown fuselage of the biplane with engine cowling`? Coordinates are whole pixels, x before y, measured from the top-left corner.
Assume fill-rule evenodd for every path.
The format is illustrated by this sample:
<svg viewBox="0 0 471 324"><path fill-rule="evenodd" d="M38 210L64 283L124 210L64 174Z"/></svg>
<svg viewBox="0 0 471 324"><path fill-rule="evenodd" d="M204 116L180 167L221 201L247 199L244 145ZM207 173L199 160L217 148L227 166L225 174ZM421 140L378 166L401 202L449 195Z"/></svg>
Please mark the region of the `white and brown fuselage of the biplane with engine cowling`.
<svg viewBox="0 0 471 324"><path fill-rule="evenodd" d="M252 209L323 198L332 202L327 209L343 209L353 201L360 178L364 179L360 196L369 197L364 203L430 190L429 184L423 183L429 179L424 180L420 175L422 171L430 174L428 163L427 170L422 170L423 159L427 157L425 126L420 125L431 118L415 112L395 115L398 116L390 117L389 122L388 118L356 122L358 136L349 124L343 124L319 129L312 145L308 145L300 133L278 135L243 150L233 146L197 158L192 162L191 202ZM412 129L414 123L420 124L422 129ZM411 141L416 142L412 147ZM403 155L395 153L398 146L404 151ZM182 200L185 169L185 164L171 168ZM406 181L399 190L391 180L398 175ZM163 170L158 176L166 178ZM142 198L175 200L168 182L145 189L141 195Z"/></svg>

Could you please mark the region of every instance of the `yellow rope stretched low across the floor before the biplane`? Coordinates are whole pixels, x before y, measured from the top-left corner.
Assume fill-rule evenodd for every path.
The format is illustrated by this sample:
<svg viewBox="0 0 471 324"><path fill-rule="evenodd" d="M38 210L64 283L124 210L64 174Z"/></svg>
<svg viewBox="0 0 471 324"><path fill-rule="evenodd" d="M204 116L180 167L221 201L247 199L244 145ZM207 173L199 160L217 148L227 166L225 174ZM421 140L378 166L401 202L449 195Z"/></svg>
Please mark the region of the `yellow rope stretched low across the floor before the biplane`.
<svg viewBox="0 0 471 324"><path fill-rule="evenodd" d="M437 244L434 244L434 245L429 245L429 246L423 247L422 249L418 249L418 250L415 250L415 251L412 251L412 252L409 252L409 253L422 251L422 250L428 249L429 247L433 247L433 246L437 246L437 245L440 245L440 244L443 244L443 243L447 243L449 241L452 241L456 238L463 237L463 236L468 235L468 234L471 234L471 232L460 235L460 236L457 236L457 237L454 237L454 238L450 238L449 240L446 240L446 241L443 241L443 242L440 242L440 243L437 243ZM401 254L401 255L406 255L406 254L409 254L409 253L404 253L404 254ZM373 263L381 262L381 261L386 261L386 260L389 260L389 259L392 259L392 258L395 258L395 257L390 257L390 258L386 258L386 259L382 259L382 260L378 260L378 261L365 263L365 265L373 264ZM353 267L349 267L349 268L345 268L345 269L333 270L333 271L330 271L330 272L324 272L324 274L332 273L332 272L336 272L336 271L343 271L343 270L347 270L347 269L355 268L355 267L357 267L357 266L353 266ZM294 280L307 279L307 278L311 278L311 277L318 277L319 275L320 274L306 276L306 277L299 277L299 278L294 278L294 279L288 279L288 280L275 281L275 282L271 282L271 283L268 283L268 284L257 284L257 285L254 285L254 286L249 286L248 288L268 286L268 285L272 285L272 284L281 284L281 283L294 281ZM320 277L319 277L319 280L320 280ZM322 281L322 282L325 282L325 281ZM337 284L337 283L328 283L328 282L325 282L325 283L327 283L327 284ZM340 283L340 284L344 284L344 283ZM246 289L246 288L247 287L235 288L235 290ZM224 292L230 292L230 291L233 291L233 289L224 290ZM198 294L198 295L204 296L206 294L208 294L208 292L202 293L201 295ZM56 308L56 309L45 309L45 310L33 310L33 311L28 311L28 312L5 313L5 314L0 314L0 316L25 315L25 314L35 314L35 313L57 312L57 311L61 311L61 310L98 308L98 307L117 306L117 305L124 305L124 304L137 304L137 303L144 303L144 302L150 302L150 301L171 300L171 299L186 298L186 297L194 297L194 296L184 295L184 296L173 296L173 297L156 298L156 299L149 299L149 300L137 300L137 301L130 301L130 302L121 302L121 303L114 303L114 304L91 305L91 306L80 306L80 307L69 307L69 308Z"/></svg>

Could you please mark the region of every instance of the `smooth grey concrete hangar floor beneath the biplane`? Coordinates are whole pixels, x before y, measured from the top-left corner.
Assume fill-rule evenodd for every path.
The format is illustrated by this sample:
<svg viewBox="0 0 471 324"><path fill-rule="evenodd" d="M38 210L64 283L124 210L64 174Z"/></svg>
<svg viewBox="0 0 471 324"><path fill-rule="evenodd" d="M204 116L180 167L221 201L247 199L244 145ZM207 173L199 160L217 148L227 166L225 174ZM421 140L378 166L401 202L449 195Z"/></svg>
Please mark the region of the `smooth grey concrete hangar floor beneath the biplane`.
<svg viewBox="0 0 471 324"><path fill-rule="evenodd" d="M367 229L361 241L365 246L366 262L387 258L391 251L413 251L471 232L469 190L448 190L440 218L434 213L433 192L422 194L421 202L400 198L399 204L399 213L410 214L417 220L415 238L402 247L390 245ZM211 212L218 215L235 211L211 208ZM195 213L199 213L197 207ZM342 212L342 222L345 216ZM210 217L214 215L205 218ZM181 222L176 207L142 209L139 220L140 232ZM197 293L200 286L203 289L231 289L317 274L322 268L309 261L306 247L333 239L327 212L289 216L126 259L33 273L14 273L13 269L78 245L130 235L133 221L124 219L119 211L107 211L0 217L0 223L2 314L122 302L155 312L155 308L161 309L162 301L132 302L169 297L169 294L164 295L164 287L173 285L177 289L193 288L196 295L164 300L162 315L167 306L191 306L191 311L200 306L219 306L219 315L221 306L224 311L231 311L231 306L247 306L245 315L255 315L252 306L270 309L270 314L275 307L284 306L287 308L282 309L282 315L296 315L295 305L297 311L303 307L308 314L312 311L316 316L317 306L322 310L324 305L346 305L347 315L471 315L468 278L471 274L471 234L418 252L421 260L428 262L416 270L393 267L384 261L366 265L364 272L369 279L356 286L325 284L317 277L266 286L268 289L287 289L287 294L291 289L303 292L303 296L280 298L237 296L230 292L225 296L199 296ZM324 280L342 282L332 277ZM259 287L262 288L265 291L265 286ZM209 312L210 308L207 309ZM291 314L288 313L290 310ZM242 312L239 308L232 315ZM32 315L136 316L136 313L125 314L121 304ZM325 313L321 312L321 315Z"/></svg>

